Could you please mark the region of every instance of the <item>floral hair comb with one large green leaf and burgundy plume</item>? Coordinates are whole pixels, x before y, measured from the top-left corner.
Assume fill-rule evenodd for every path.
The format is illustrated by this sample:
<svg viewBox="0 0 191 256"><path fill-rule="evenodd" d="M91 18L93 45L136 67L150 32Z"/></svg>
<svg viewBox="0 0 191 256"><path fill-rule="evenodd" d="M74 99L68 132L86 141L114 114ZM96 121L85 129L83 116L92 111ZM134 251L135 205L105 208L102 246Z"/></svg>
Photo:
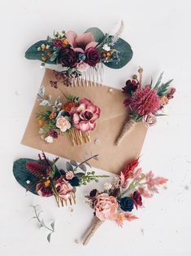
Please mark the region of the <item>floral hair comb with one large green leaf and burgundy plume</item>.
<svg viewBox="0 0 191 256"><path fill-rule="evenodd" d="M21 186L38 196L54 196L57 205L67 205L69 201L76 204L76 187L86 185L90 181L98 182L98 178L108 177L96 175L94 171L87 172L89 160L98 160L98 155L89 157L80 164L67 161L67 170L59 170L55 165L56 157L50 161L44 152L38 155L38 160L20 158L14 162L13 173ZM86 164L86 165L85 165Z"/></svg>

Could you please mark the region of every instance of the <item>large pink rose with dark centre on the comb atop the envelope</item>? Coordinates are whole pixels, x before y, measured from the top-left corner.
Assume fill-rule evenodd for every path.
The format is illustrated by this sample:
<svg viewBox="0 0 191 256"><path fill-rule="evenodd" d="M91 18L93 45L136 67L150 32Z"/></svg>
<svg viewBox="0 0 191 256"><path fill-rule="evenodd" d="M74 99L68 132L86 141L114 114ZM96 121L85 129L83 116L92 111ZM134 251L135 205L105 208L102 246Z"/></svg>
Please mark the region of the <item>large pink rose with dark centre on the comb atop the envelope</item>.
<svg viewBox="0 0 191 256"><path fill-rule="evenodd" d="M100 108L84 98L79 100L78 107L72 108L70 114L76 129L85 132L95 128L95 121L100 116Z"/></svg>

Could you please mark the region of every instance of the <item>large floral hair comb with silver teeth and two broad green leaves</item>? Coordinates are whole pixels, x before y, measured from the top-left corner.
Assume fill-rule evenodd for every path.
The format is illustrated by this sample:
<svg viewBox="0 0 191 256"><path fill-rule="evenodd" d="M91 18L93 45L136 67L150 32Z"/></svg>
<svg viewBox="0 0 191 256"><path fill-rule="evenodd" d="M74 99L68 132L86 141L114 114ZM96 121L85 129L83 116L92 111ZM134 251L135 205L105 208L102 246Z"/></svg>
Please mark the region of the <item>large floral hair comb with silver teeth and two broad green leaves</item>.
<svg viewBox="0 0 191 256"><path fill-rule="evenodd" d="M54 71L52 86L62 81L65 86L99 86L103 80L103 64L109 68L122 68L132 59L132 49L128 42L119 38L124 30L121 21L116 33L102 33L98 28L90 28L78 36L74 31L54 33L29 47L25 57L41 60L41 65L61 64L62 72Z"/></svg>

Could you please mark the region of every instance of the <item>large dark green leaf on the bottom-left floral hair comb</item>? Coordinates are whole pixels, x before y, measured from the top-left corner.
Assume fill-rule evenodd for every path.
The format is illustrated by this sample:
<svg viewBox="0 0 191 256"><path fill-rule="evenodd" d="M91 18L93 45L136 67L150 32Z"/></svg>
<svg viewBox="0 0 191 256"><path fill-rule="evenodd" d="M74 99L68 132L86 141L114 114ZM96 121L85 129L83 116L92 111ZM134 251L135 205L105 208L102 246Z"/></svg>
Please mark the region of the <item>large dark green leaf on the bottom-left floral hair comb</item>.
<svg viewBox="0 0 191 256"><path fill-rule="evenodd" d="M26 169L26 164L28 161L37 162L29 158L20 158L13 164L13 174L18 183L20 183L20 185L26 189L29 188L28 186L30 184L34 183L33 187L29 188L29 191L37 195L36 184L38 179L33 174L31 174L28 169Z"/></svg>

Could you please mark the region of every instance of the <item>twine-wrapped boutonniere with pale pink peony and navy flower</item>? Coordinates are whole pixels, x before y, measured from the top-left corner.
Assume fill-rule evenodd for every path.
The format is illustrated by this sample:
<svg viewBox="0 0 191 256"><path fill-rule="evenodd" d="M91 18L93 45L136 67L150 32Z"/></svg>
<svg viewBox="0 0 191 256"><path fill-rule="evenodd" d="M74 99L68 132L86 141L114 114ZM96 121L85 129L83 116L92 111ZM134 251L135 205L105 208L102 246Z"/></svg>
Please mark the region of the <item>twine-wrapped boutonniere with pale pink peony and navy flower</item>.
<svg viewBox="0 0 191 256"><path fill-rule="evenodd" d="M115 221L120 227L123 226L124 220L137 219L132 210L142 207L142 197L153 196L154 192L158 193L159 185L167 183L167 179L154 177L151 170L144 174L141 167L137 167L138 160L130 162L114 183L106 183L103 192L93 189L89 196L86 196L95 217L83 245L88 244L94 232L108 219Z"/></svg>

